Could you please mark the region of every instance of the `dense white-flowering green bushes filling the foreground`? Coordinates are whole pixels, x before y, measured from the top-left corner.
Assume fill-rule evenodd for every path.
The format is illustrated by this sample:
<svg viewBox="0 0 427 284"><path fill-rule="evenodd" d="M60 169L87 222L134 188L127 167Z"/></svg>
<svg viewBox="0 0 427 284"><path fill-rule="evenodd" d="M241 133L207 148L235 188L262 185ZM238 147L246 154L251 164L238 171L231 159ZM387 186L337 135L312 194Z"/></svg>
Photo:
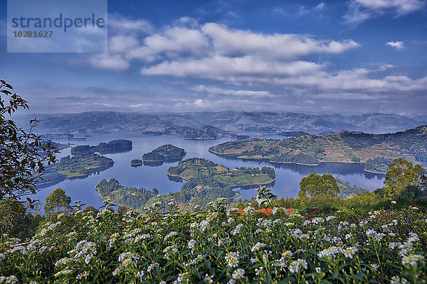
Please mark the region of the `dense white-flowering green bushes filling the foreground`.
<svg viewBox="0 0 427 284"><path fill-rule="evenodd" d="M425 283L427 215L307 218L211 203L193 214L110 207L57 212L24 244L0 244L6 283ZM47 220L46 220L47 221ZM31 282L35 281L35 282Z"/></svg>

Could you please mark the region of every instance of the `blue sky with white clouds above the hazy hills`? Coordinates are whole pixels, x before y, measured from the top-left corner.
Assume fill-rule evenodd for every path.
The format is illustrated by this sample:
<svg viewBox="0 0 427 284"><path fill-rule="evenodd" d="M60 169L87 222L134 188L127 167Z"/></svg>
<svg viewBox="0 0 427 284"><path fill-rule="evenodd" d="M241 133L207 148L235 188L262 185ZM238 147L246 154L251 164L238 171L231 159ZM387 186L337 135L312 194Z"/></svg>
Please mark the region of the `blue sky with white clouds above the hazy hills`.
<svg viewBox="0 0 427 284"><path fill-rule="evenodd" d="M426 0L127 0L107 12L107 53L8 53L0 9L0 77L27 113L427 114Z"/></svg>

